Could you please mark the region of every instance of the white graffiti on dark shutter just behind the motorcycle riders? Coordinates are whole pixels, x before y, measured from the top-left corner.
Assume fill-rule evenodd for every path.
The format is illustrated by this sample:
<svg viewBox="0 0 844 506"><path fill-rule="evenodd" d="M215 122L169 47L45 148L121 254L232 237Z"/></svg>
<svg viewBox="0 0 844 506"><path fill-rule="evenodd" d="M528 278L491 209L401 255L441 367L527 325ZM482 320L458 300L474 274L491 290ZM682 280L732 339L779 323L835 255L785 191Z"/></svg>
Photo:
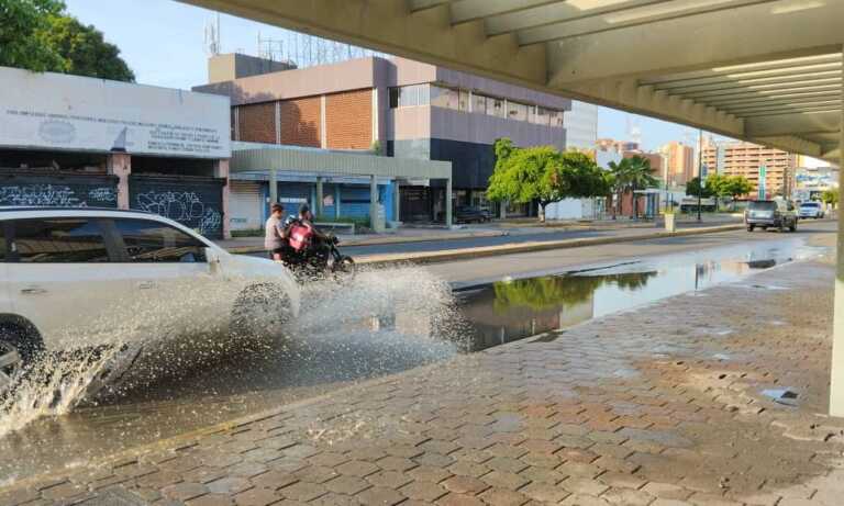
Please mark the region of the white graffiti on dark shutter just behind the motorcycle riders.
<svg viewBox="0 0 844 506"><path fill-rule="evenodd" d="M160 214L186 226L210 235L220 230L223 218L219 211L207 206L192 191L155 191L138 193L137 209Z"/></svg>

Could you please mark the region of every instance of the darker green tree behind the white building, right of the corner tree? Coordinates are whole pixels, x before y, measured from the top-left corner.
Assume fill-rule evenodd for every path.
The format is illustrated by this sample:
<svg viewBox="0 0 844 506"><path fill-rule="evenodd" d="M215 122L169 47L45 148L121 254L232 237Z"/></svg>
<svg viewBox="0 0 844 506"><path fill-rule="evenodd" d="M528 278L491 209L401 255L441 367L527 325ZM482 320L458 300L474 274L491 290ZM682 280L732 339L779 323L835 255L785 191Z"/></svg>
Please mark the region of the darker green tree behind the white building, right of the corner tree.
<svg viewBox="0 0 844 506"><path fill-rule="evenodd" d="M120 57L120 49L106 42L102 32L68 15L52 16L43 40L64 58L64 72L134 82L135 75Z"/></svg>

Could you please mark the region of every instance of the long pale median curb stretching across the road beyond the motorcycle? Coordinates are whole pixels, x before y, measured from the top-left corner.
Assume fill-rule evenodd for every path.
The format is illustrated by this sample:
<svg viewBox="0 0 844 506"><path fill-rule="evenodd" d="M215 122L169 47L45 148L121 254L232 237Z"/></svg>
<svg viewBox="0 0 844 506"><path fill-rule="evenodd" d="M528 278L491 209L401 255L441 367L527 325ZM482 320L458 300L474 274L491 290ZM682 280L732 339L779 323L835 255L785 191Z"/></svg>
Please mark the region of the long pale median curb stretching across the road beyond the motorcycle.
<svg viewBox="0 0 844 506"><path fill-rule="evenodd" d="M447 251L426 251L419 254L370 255L360 257L355 263L362 266L388 266L392 263L435 263L466 258L496 257L501 255L514 255L533 251L547 251L551 249L581 248L586 246L600 246L615 243L632 243L636 240L660 239L667 237L684 237L690 235L714 234L743 229L744 224L720 225L701 228L687 228L677 232L652 232L630 236L595 237L581 239L549 240L542 243L523 243L504 246L488 246L481 248L463 248Z"/></svg>

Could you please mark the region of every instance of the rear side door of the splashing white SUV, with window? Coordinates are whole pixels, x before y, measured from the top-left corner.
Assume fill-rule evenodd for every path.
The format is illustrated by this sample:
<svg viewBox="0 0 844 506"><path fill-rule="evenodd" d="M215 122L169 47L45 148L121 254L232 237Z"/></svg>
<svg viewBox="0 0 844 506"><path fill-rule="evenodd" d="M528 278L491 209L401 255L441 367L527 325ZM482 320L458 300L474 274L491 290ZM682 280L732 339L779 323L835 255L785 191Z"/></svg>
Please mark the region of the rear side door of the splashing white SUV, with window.
<svg viewBox="0 0 844 506"><path fill-rule="evenodd" d="M7 291L51 349L99 346L116 338L112 303L120 296L113 246L95 217L13 220Z"/></svg>

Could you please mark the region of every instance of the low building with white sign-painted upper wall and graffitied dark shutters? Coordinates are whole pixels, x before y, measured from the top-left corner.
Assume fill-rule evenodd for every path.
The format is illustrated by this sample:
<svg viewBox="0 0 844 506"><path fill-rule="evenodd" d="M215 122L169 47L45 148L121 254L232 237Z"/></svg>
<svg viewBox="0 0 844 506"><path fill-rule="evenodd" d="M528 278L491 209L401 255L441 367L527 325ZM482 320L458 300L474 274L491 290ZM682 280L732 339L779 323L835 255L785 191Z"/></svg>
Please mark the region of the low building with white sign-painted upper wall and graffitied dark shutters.
<svg viewBox="0 0 844 506"><path fill-rule="evenodd" d="M0 205L149 211L229 235L225 97L0 67Z"/></svg>

